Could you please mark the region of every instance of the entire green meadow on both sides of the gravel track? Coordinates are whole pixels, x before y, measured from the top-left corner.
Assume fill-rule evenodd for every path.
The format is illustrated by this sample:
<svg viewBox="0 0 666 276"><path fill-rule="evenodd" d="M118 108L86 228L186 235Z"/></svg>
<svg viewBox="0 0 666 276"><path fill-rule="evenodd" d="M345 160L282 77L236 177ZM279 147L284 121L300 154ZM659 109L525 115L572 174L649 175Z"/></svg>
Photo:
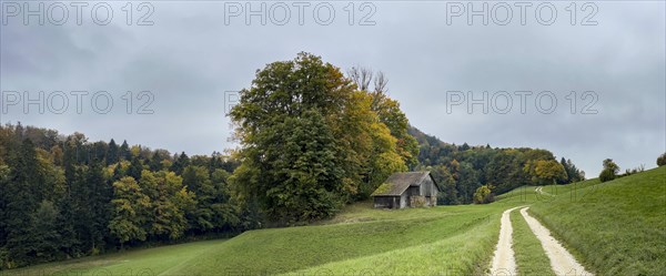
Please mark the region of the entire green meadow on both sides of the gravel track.
<svg viewBox="0 0 666 276"><path fill-rule="evenodd" d="M488 205L373 209L345 207L311 226L250 231L234 238L108 254L0 275L471 275L484 274L503 211L529 213L597 275L666 270L666 167L597 180L523 187ZM547 193L547 194L546 194ZM523 275L548 275L548 259L517 211L514 251Z"/></svg>

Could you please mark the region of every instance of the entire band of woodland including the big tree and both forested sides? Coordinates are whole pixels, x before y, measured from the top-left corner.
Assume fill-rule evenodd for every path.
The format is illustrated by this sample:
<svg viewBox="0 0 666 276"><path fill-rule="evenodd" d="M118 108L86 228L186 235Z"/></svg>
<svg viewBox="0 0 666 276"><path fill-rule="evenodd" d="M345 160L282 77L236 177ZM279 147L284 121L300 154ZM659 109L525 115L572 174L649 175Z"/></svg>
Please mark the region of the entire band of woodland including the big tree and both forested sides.
<svg viewBox="0 0 666 276"><path fill-rule="evenodd" d="M300 53L258 70L229 113L238 149L172 154L0 125L0 267L303 225L432 171L441 204L584 178L534 149L448 144L410 125L386 76ZM455 130L451 130L455 131Z"/></svg>

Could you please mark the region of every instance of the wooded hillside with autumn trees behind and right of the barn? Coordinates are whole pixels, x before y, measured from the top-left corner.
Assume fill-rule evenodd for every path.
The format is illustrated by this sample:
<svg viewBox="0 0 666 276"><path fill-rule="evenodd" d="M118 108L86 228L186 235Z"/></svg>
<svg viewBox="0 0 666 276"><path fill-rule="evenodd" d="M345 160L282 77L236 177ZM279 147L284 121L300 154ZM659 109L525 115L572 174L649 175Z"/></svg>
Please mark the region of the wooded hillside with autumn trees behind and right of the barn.
<svg viewBox="0 0 666 276"><path fill-rule="evenodd" d="M585 173L571 160L559 162L552 152L541 149L498 149L442 142L416 127L410 134L418 141L418 165L428 170L443 191L438 203L487 203L524 185L567 184L585 180ZM475 193L477 193L475 201Z"/></svg>

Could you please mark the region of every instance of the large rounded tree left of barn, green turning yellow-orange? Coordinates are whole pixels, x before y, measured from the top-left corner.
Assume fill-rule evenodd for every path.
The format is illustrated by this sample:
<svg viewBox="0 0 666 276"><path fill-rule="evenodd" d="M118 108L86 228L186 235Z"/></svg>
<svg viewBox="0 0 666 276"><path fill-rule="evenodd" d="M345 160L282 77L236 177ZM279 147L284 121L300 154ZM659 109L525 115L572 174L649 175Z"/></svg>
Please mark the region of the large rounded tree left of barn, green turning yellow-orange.
<svg viewBox="0 0 666 276"><path fill-rule="evenodd" d="M415 156L393 135L406 134L397 105L382 100L386 108L379 112L373 96L309 53L259 70L229 114L242 145L235 191L287 224L366 198ZM386 124L393 121L395 131Z"/></svg>

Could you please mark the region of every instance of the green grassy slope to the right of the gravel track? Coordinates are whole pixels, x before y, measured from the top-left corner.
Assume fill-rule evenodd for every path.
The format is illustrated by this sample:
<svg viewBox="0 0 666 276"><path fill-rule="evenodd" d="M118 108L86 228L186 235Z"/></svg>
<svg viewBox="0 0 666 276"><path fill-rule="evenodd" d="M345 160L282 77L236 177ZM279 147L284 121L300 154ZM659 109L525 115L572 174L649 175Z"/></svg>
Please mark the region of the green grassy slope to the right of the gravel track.
<svg viewBox="0 0 666 276"><path fill-rule="evenodd" d="M556 196L529 213L598 275L666 272L666 166Z"/></svg>

